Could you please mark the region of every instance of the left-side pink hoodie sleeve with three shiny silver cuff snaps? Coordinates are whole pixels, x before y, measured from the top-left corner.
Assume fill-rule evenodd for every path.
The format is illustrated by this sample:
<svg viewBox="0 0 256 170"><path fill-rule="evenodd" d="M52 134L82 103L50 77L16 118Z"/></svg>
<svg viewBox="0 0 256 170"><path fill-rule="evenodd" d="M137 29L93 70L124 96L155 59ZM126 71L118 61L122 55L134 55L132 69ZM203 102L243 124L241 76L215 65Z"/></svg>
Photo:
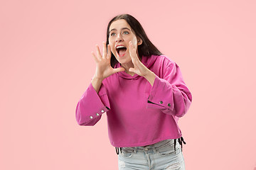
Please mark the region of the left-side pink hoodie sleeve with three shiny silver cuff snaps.
<svg viewBox="0 0 256 170"><path fill-rule="evenodd" d="M105 86L102 84L97 93L90 83L87 90L78 101L75 110L75 118L78 125L95 125L102 114L110 110L110 102L107 97Z"/></svg>

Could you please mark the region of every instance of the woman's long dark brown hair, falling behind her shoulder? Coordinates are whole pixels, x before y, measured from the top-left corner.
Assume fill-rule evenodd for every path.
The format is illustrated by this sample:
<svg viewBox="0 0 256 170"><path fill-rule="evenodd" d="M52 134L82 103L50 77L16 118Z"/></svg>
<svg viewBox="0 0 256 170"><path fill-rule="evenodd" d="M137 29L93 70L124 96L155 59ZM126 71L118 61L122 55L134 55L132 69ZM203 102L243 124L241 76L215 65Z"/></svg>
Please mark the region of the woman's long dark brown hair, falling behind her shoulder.
<svg viewBox="0 0 256 170"><path fill-rule="evenodd" d="M151 55L162 55L162 53L154 46L154 44L149 40L149 38L146 36L146 33L144 29L142 28L142 25L137 21L136 18L129 14L121 14L118 16L115 16L112 18L110 23L107 25L107 41L106 44L109 44L109 37L110 37L110 25L112 22L124 19L127 21L129 26L132 28L134 31L134 34L142 39L142 44L138 46L138 53L139 57L146 56L150 57ZM111 61L110 64L114 68L114 65L117 64L117 59L114 57L114 55L111 53Z"/></svg>

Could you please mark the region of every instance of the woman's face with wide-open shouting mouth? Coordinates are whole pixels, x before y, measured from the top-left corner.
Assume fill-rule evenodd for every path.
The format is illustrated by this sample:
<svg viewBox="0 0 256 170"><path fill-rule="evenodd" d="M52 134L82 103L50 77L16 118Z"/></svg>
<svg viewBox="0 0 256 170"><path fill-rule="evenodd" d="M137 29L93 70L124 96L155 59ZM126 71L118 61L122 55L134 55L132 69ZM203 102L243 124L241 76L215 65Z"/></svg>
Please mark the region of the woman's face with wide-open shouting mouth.
<svg viewBox="0 0 256 170"><path fill-rule="evenodd" d="M112 22L109 36L111 52L121 64L132 62L129 55L129 41L132 41L138 55L138 45L142 44L142 39L137 39L132 28L124 19Z"/></svg>

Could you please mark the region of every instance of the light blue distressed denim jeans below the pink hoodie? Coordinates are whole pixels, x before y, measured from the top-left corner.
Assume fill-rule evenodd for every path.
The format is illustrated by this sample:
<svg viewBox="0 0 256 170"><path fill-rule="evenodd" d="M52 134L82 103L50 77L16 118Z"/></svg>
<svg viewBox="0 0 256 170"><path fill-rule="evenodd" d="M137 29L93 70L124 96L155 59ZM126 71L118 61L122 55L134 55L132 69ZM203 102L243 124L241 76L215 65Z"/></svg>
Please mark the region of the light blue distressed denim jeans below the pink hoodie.
<svg viewBox="0 0 256 170"><path fill-rule="evenodd" d="M185 169L181 145L174 140L163 140L145 147L122 147L118 154L119 170Z"/></svg>

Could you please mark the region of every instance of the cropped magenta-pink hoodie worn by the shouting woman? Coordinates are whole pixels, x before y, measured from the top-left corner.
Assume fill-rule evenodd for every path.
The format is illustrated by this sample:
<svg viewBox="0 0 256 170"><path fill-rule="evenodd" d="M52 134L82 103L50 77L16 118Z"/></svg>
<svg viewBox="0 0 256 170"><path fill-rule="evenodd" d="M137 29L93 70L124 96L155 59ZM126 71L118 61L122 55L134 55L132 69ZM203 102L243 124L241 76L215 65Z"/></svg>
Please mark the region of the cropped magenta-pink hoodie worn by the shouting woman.
<svg viewBox="0 0 256 170"><path fill-rule="evenodd" d="M118 72L102 81L98 94L90 84L78 101L79 125L95 125L107 113L114 147L140 147L182 136L178 118L188 111L192 96L181 70L164 55L142 56L142 63L156 74L153 86L138 74Z"/></svg>

